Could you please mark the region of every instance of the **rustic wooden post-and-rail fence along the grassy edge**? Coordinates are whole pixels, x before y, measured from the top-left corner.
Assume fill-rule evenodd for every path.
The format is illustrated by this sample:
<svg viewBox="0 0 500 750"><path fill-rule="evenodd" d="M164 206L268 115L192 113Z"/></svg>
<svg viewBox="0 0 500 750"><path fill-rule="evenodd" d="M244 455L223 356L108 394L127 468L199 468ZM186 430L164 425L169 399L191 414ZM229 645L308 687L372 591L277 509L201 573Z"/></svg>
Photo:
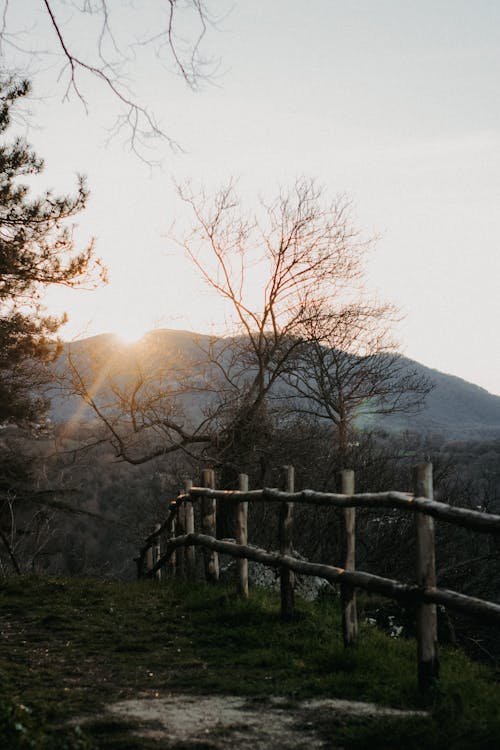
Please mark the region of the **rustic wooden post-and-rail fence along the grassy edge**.
<svg viewBox="0 0 500 750"><path fill-rule="evenodd" d="M210 583L219 579L219 553L237 559L237 586L242 596L248 596L248 561L276 568L280 571L281 615L290 620L294 612L294 574L319 576L340 585L342 602L342 633L346 646L358 638L356 589L381 594L403 603L417 606L417 668L418 684L427 690L439 676L437 643L437 605L473 615L485 622L500 624L500 605L466 596L456 591L436 587L434 518L448 523L500 535L500 516L467 508L456 508L433 499L432 464L420 464L413 472L413 493L354 492L354 472L342 472L340 494L302 490L295 492L293 467L287 467L285 489L248 489L248 477L241 474L238 490L215 489L215 474L211 469L202 472L201 485L187 481L184 492L170 504L169 514L162 524L146 539L136 559L138 575L159 578L162 570L184 577L195 575L194 548L203 549L205 578ZM216 503L223 499L234 504L236 540L216 538ZM200 503L201 533L195 532L193 503ZM278 552L249 546L247 512L249 502L279 504ZM316 508L336 507L342 512L341 558L344 567L323 565L299 560L293 556L293 507L300 503ZM356 508L398 508L415 516L416 575L415 583L384 578L357 571L355 567ZM166 537L164 549L160 538Z"/></svg>

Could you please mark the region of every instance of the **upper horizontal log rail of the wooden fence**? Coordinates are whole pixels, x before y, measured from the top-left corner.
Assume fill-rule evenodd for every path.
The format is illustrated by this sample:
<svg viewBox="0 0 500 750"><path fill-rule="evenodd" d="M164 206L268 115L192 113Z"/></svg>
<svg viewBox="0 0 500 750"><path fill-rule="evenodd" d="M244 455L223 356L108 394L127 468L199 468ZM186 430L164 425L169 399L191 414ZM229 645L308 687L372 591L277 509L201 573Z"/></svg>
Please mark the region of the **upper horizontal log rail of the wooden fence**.
<svg viewBox="0 0 500 750"><path fill-rule="evenodd" d="M336 506L338 508L394 508L410 510L414 513L425 513L442 521L473 529L483 533L500 535L500 515L483 513L469 508L456 508L437 500L426 497L414 497L408 492L364 492L355 495L341 495L331 492L316 492L302 490L302 492L281 492L280 490L264 488L239 492L237 490L211 490L207 487L192 487L189 494L180 495L179 502L197 497L211 497L233 500L235 503L257 502L292 502L313 506Z"/></svg>

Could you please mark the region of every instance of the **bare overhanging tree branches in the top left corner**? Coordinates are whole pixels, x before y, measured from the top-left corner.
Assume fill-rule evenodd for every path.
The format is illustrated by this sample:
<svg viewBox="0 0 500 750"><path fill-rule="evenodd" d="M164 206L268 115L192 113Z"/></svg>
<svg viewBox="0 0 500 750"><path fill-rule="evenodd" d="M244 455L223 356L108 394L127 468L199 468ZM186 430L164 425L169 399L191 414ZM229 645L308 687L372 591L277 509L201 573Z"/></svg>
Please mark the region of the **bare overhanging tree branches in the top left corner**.
<svg viewBox="0 0 500 750"><path fill-rule="evenodd" d="M202 52L207 30L215 23L208 2L163 0L153 4L124 4L119 0L38 0L31 5L39 6L38 23L33 26L30 20L29 26L23 27L16 25L12 0L0 0L0 51L4 67L13 69L19 62L46 67L47 62L52 65L55 59L63 99L74 95L87 111L87 82L102 86L120 107L112 132L125 132L130 148L141 158L145 158L147 141L152 137L165 139L172 148L179 148L157 122L154 112L141 102L140 94L131 89L130 71L152 51L163 73L170 69L193 90L211 79L217 61L204 57ZM82 44L82 37L90 39L91 44Z"/></svg>

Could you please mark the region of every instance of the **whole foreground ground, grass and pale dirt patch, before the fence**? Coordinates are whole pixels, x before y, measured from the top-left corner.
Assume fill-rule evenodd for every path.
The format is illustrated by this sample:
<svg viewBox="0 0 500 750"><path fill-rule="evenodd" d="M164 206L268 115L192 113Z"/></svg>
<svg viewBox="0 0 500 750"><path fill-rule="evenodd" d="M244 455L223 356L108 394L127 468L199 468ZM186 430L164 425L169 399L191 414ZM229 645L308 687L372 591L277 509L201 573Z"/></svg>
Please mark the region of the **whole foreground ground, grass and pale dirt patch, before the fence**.
<svg viewBox="0 0 500 750"><path fill-rule="evenodd" d="M2 580L0 605L9 750L498 747L492 670L445 647L423 698L415 641L365 613L344 649L336 596L284 623L263 589L27 576Z"/></svg>

